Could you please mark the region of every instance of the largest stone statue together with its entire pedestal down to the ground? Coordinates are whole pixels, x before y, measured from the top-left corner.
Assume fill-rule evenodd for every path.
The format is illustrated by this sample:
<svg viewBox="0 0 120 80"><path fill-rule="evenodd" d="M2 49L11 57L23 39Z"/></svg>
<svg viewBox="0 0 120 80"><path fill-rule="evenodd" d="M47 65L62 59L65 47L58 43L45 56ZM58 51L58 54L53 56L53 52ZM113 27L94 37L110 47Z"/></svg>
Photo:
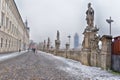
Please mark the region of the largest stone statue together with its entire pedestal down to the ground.
<svg viewBox="0 0 120 80"><path fill-rule="evenodd" d="M91 3L88 3L88 10L86 11L87 26L83 32L84 39L82 42L82 63L86 65L97 65L97 59L99 58L99 39L100 36L97 34L99 28L94 26L94 10L91 7Z"/></svg>

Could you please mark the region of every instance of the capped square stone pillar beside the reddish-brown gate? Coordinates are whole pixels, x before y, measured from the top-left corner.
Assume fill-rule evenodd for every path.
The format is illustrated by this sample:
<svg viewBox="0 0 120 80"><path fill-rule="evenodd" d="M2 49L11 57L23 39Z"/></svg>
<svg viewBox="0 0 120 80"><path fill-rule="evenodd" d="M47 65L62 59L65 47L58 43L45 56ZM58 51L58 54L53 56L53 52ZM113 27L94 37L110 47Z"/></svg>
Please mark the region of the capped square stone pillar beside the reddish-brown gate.
<svg viewBox="0 0 120 80"><path fill-rule="evenodd" d="M102 49L101 49L101 67L103 69L111 68L111 44L112 44L112 36L103 35L101 38L102 41Z"/></svg>

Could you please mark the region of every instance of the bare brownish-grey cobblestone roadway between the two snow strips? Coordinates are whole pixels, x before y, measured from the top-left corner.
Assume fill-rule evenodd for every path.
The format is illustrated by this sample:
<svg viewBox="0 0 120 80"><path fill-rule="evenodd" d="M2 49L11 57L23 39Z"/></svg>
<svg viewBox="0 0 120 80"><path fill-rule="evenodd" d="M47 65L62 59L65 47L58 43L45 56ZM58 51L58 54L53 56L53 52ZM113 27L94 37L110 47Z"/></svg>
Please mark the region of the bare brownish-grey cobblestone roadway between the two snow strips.
<svg viewBox="0 0 120 80"><path fill-rule="evenodd" d="M0 80L79 80L57 66L68 66L43 52L27 52L0 62Z"/></svg>

